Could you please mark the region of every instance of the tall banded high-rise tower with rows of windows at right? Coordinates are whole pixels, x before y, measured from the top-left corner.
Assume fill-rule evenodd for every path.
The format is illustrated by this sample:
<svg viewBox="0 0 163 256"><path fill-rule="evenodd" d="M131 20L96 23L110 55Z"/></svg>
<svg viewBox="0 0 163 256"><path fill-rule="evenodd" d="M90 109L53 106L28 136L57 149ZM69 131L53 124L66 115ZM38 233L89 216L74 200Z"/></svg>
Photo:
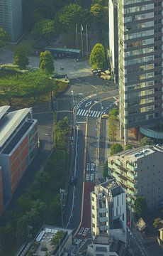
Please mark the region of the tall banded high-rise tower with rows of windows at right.
<svg viewBox="0 0 163 256"><path fill-rule="evenodd" d="M127 144L128 128L162 119L163 1L117 4L120 133Z"/></svg>

